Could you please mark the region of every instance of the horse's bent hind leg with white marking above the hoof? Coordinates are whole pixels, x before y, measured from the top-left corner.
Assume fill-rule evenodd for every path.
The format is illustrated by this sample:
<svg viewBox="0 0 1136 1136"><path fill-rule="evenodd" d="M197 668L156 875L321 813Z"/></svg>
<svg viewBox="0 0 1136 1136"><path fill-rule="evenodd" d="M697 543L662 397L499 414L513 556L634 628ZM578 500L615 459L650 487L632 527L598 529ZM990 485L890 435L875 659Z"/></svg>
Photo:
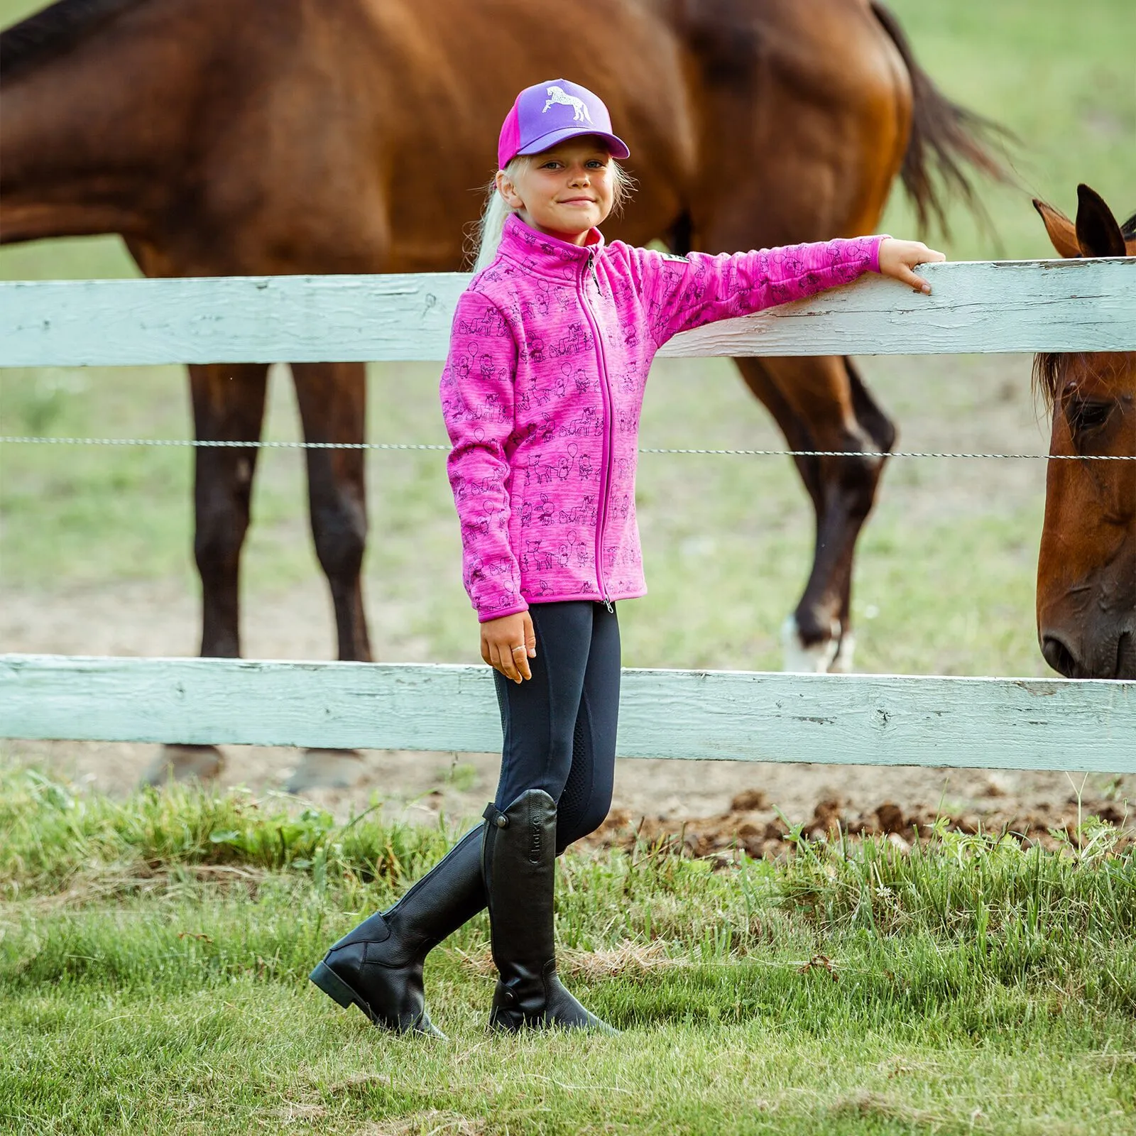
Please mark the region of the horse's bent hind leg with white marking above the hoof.
<svg viewBox="0 0 1136 1136"><path fill-rule="evenodd" d="M875 501L895 428L847 359L736 361L792 449L879 453L794 459L816 511L816 545L804 594L783 627L785 669L849 670L855 542Z"/></svg>

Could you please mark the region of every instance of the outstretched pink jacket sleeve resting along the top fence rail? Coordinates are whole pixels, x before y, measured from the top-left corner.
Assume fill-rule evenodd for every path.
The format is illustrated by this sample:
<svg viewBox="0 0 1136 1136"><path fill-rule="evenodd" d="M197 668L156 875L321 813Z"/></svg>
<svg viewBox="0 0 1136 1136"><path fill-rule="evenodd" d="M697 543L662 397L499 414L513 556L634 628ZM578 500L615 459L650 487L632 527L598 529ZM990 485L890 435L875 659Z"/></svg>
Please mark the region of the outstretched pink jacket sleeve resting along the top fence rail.
<svg viewBox="0 0 1136 1136"><path fill-rule="evenodd" d="M879 272L883 236L787 244L717 257L669 257L635 249L643 308L655 344L732 316L803 300L867 272Z"/></svg>

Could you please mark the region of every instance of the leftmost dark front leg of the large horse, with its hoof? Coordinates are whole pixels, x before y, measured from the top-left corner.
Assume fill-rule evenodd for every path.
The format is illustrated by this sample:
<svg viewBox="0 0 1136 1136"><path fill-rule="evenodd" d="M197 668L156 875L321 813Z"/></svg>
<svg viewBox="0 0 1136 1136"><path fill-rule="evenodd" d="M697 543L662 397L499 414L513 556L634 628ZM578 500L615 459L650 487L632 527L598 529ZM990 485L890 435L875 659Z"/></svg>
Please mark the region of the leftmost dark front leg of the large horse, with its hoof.
<svg viewBox="0 0 1136 1136"><path fill-rule="evenodd" d="M267 381L267 364L191 366L195 437L210 442L258 441ZM194 450L193 551L201 577L202 657L235 659L241 654L239 574L257 453L254 448ZM157 785L169 777L216 777L222 765L222 753L215 745L167 745L143 780Z"/></svg>

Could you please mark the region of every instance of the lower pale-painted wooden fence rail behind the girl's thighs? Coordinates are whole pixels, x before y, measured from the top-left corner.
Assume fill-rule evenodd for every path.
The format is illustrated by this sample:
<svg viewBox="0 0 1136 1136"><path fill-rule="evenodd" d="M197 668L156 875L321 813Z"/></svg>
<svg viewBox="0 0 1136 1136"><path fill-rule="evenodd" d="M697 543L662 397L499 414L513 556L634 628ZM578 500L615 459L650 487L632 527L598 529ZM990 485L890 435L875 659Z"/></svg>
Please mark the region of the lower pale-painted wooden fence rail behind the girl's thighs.
<svg viewBox="0 0 1136 1136"><path fill-rule="evenodd" d="M0 737L501 745L485 667L14 654ZM618 752L1136 772L1136 683L626 670Z"/></svg>

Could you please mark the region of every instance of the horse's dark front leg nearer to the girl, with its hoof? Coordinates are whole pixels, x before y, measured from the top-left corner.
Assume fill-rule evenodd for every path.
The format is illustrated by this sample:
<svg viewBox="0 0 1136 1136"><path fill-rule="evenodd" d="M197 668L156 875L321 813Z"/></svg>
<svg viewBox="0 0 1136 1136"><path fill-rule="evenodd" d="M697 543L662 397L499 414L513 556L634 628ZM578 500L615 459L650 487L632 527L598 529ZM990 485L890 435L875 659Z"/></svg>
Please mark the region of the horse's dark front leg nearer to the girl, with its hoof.
<svg viewBox="0 0 1136 1136"><path fill-rule="evenodd" d="M367 373L359 362L293 364L296 401L308 442L364 441ZM362 450L308 450L308 502L316 554L335 608L339 657L370 661L362 604L362 556L367 499ZM287 783L289 792L346 788L362 775L354 750L307 750Z"/></svg>

